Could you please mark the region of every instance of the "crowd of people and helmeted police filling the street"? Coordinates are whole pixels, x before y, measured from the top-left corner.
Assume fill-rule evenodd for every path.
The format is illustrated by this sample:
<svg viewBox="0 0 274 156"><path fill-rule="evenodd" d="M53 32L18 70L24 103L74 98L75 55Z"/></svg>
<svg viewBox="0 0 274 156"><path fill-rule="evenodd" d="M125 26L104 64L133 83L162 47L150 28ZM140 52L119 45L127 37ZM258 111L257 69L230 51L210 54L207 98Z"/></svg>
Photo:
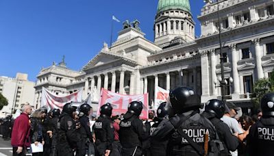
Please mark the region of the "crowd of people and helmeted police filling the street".
<svg viewBox="0 0 274 156"><path fill-rule="evenodd" d="M211 99L201 112L201 97L178 87L156 113L141 120L143 105L132 101L127 112L112 116L112 104L92 107L66 103L62 112L23 105L12 129L13 155L25 155L30 144L43 145L32 155L166 156L250 155L274 153L274 94L262 97L261 109L242 115L234 103ZM32 114L32 115L31 115ZM31 117L29 118L29 116Z"/></svg>

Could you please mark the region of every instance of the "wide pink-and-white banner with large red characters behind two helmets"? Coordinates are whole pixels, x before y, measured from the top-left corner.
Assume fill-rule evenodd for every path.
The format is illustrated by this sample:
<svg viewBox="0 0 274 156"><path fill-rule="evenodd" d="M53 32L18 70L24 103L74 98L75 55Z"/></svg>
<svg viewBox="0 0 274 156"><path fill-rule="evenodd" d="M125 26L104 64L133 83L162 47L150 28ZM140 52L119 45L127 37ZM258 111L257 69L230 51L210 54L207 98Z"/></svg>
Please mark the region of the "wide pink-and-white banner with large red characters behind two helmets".
<svg viewBox="0 0 274 156"><path fill-rule="evenodd" d="M105 90L101 88L101 97L99 99L99 105L97 109L97 116L100 114L100 107L105 103L112 104L112 116L125 114L127 112L127 106L132 101L141 101L142 102L142 113L140 114L140 118L147 119L148 118L148 97L149 94L140 94L140 95L124 95L117 94L115 92L110 92L109 90Z"/></svg>

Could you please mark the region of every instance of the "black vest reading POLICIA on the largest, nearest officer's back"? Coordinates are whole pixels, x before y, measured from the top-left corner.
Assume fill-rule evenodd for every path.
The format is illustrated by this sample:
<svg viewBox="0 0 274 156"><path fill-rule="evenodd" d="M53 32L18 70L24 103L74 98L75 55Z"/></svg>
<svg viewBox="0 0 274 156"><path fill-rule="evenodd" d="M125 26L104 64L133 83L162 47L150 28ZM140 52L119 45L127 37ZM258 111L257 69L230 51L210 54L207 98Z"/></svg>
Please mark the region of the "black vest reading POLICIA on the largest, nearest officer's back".
<svg viewBox="0 0 274 156"><path fill-rule="evenodd" d="M212 125L212 122L210 122L210 120L208 120L208 118L205 118L203 116L200 116L199 120L203 120L203 122L195 122L193 123L190 120L190 117L193 116L194 114L190 114L189 116L183 116L181 117L181 119L179 120L179 123L177 124L177 128L174 128L174 130L179 133L179 135L182 136L183 141L184 142L188 142L188 144L190 144L192 146L192 148L195 149L195 151L201 155L201 156L220 156L221 155L221 151L223 151L225 148L223 146L223 142L221 142L221 140L219 139L219 135L216 133L216 129L214 128L214 125ZM180 125L184 125L186 127L188 127L188 129L207 129L208 126L210 125L210 127L212 127L212 132L214 132L214 136L210 138L210 140L208 141L208 143L203 142L203 148L201 148L201 145L199 145L197 142L201 141L201 135L200 134L200 138L197 138L196 142L193 141L192 138L190 138L187 135L187 131L186 129L182 129L182 127ZM175 126L176 127L176 126ZM194 130L193 130L194 131ZM208 133L208 135L210 135L210 131L203 131L204 133ZM203 140L205 140L206 135L203 135ZM195 139L194 139L195 140Z"/></svg>

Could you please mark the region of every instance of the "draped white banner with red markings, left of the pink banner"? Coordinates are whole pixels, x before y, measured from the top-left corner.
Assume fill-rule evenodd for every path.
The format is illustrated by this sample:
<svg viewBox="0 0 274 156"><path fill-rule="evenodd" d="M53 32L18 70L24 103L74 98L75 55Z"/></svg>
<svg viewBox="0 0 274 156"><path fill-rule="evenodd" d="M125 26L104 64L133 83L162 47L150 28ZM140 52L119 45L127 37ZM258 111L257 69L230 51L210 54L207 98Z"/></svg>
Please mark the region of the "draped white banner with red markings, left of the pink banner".
<svg viewBox="0 0 274 156"><path fill-rule="evenodd" d="M66 96L58 96L52 94L46 88L42 88L41 107L47 107L48 110L56 108L62 111L63 106L66 103L69 103L71 101L82 103L82 92L83 88Z"/></svg>

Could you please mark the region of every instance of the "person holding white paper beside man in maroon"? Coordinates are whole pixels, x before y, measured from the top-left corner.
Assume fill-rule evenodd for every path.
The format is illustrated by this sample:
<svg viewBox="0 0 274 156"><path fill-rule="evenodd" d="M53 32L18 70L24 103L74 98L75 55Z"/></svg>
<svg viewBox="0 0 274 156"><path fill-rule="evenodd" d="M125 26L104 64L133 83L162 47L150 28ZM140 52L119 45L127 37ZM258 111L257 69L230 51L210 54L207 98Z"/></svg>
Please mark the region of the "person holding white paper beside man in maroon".
<svg viewBox="0 0 274 156"><path fill-rule="evenodd" d="M32 139L32 155L42 156L42 145L45 144L42 135L42 111L37 109L30 119L31 123L31 139ZM42 144L42 145L41 145Z"/></svg>

